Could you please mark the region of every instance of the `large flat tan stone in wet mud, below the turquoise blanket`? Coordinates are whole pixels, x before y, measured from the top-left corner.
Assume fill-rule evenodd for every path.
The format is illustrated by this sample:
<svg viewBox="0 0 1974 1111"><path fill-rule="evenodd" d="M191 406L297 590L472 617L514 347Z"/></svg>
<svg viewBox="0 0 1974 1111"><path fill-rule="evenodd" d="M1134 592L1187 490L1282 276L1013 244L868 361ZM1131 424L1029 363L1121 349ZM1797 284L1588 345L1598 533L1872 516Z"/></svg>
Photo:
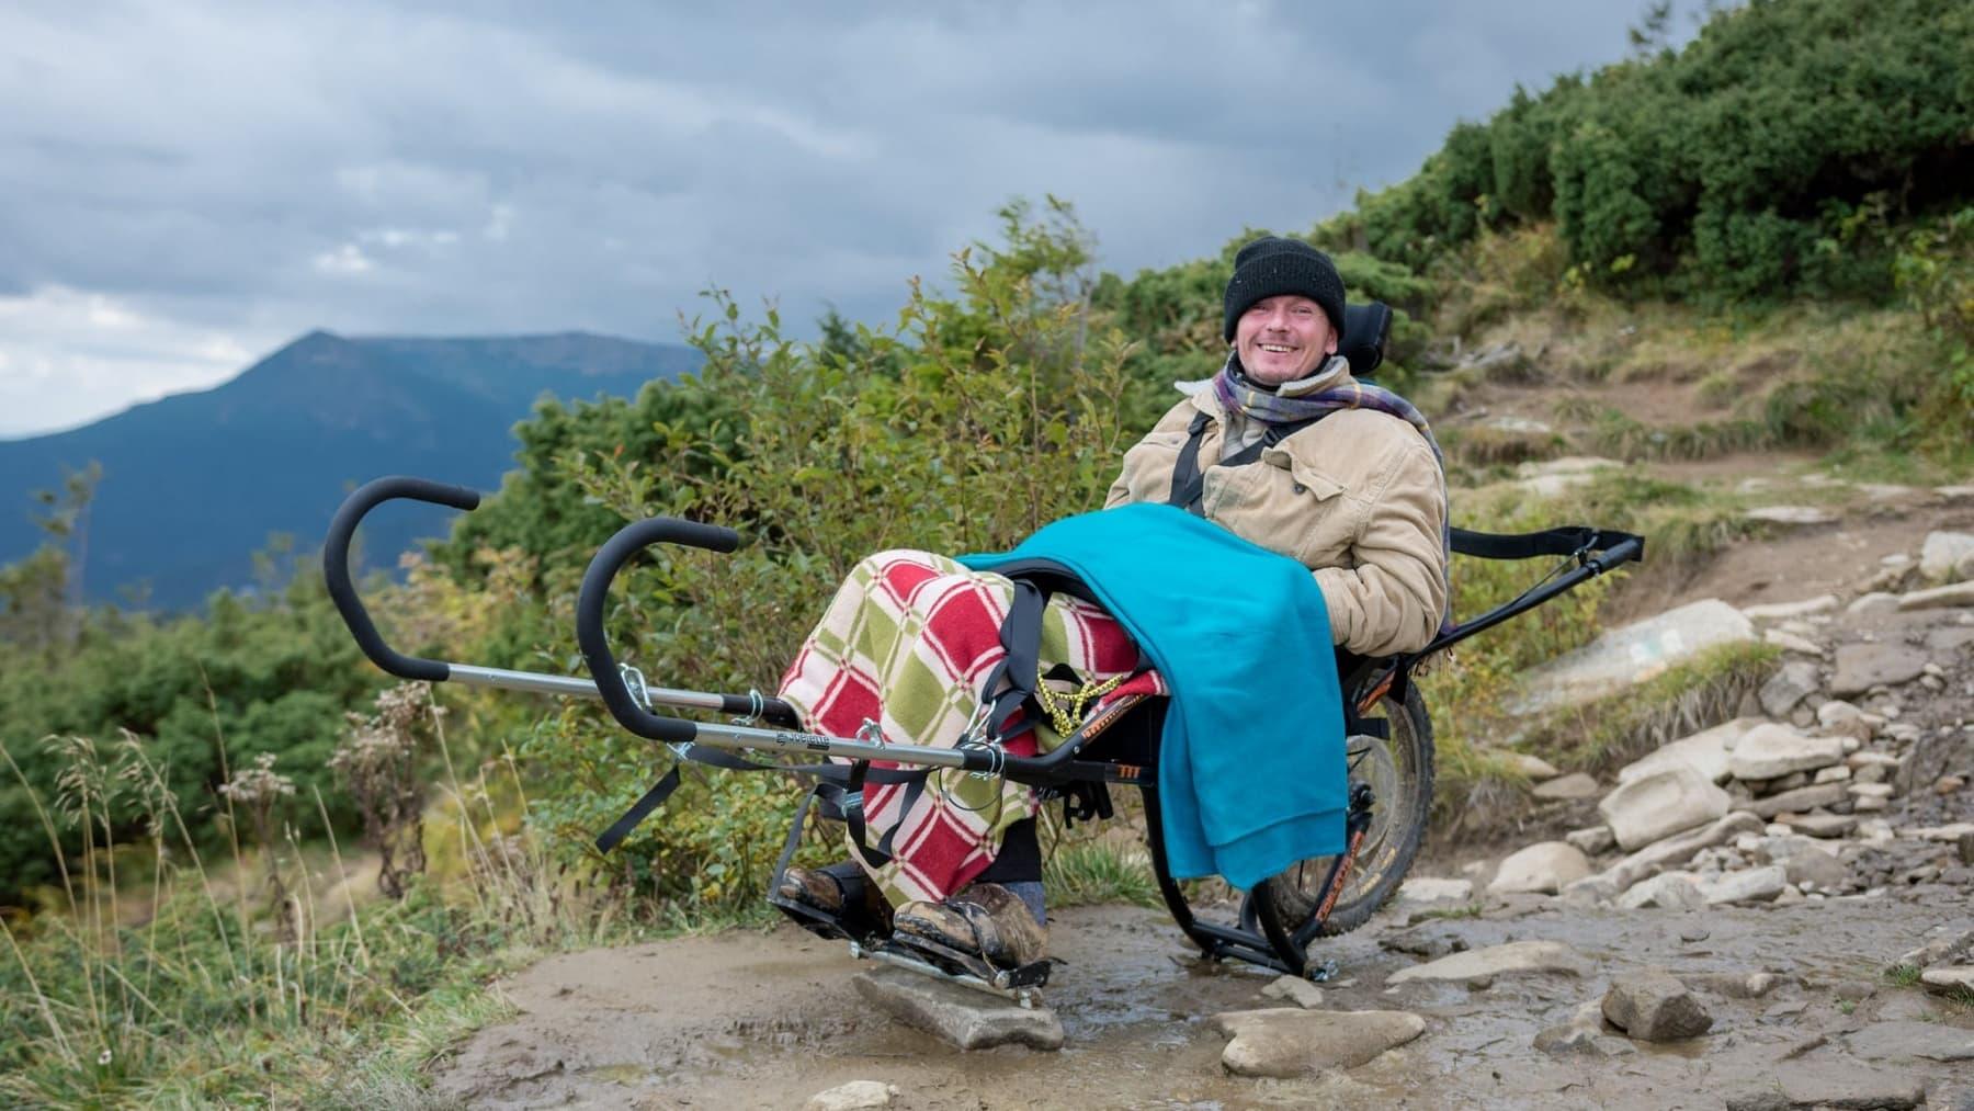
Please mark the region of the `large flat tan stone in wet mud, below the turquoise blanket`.
<svg viewBox="0 0 1974 1111"><path fill-rule="evenodd" d="M1230 1010L1214 1014L1230 1036L1220 1064L1236 1075L1297 1077L1356 1068L1425 1032L1405 1010Z"/></svg>

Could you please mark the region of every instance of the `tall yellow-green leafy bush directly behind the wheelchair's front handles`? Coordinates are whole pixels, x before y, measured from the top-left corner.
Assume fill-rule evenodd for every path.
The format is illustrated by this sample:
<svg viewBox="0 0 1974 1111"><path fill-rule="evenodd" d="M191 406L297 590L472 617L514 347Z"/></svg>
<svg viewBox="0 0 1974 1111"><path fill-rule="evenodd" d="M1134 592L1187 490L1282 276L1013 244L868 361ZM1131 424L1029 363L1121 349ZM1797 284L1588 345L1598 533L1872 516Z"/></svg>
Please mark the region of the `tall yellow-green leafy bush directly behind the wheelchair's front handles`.
<svg viewBox="0 0 1974 1111"><path fill-rule="evenodd" d="M703 472L616 450L549 464L533 489L570 483L620 519L687 515L744 535L738 553L657 553L622 578L612 628L628 663L669 687L772 689L871 553L1007 549L1101 505L1133 383L1094 304L1088 235L1060 201L1001 215L1001 243L959 253L951 296L914 288L894 332L796 343L772 310L746 320L713 292L713 320L693 326L705 373L679 391L719 391L746 422L681 438ZM523 756L535 819L572 852L669 762L590 706L541 724ZM797 799L776 776L689 774L606 866L695 912L754 904Z"/></svg>

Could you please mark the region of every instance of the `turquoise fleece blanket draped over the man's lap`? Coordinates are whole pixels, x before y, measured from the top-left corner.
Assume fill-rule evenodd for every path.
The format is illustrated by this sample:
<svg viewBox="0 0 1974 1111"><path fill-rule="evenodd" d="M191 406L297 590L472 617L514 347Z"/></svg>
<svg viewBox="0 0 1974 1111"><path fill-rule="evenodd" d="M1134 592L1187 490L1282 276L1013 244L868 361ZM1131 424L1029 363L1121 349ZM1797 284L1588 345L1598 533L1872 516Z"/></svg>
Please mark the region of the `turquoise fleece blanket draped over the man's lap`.
<svg viewBox="0 0 1974 1111"><path fill-rule="evenodd" d="M1309 568L1171 505L1066 517L959 562L1017 558L1074 568L1173 689L1159 746L1173 876L1250 888L1342 852L1342 693Z"/></svg>

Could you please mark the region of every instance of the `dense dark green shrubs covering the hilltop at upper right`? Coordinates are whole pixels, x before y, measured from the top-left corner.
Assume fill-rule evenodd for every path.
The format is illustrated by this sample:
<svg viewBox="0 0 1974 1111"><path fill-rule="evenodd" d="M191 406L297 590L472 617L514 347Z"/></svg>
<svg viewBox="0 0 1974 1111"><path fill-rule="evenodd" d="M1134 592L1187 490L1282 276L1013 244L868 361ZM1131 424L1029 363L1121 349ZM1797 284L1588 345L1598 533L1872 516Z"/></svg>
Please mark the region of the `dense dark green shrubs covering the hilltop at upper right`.
<svg viewBox="0 0 1974 1111"><path fill-rule="evenodd" d="M1638 36L1629 61L1455 126L1319 241L1423 270L1488 229L1556 221L1589 284L1883 296L1877 245L1820 243L1871 197L1911 213L1964 195L1964 4L1757 0L1711 14L1678 53Z"/></svg>

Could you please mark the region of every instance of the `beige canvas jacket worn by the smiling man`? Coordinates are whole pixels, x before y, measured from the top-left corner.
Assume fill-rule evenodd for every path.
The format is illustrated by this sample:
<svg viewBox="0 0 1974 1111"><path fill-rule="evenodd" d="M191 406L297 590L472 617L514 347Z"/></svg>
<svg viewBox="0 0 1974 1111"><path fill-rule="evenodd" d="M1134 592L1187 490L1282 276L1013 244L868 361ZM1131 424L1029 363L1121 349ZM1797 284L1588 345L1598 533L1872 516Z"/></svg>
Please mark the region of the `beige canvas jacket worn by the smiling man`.
<svg viewBox="0 0 1974 1111"><path fill-rule="evenodd" d="M1228 420L1214 391L1202 389L1125 452L1105 509L1171 497L1194 412L1214 418L1200 444L1206 519L1315 570L1334 643L1392 655L1433 639L1447 610L1447 501L1417 428L1346 408L1263 448L1255 464L1224 468L1214 460Z"/></svg>

